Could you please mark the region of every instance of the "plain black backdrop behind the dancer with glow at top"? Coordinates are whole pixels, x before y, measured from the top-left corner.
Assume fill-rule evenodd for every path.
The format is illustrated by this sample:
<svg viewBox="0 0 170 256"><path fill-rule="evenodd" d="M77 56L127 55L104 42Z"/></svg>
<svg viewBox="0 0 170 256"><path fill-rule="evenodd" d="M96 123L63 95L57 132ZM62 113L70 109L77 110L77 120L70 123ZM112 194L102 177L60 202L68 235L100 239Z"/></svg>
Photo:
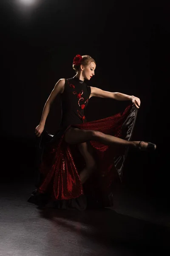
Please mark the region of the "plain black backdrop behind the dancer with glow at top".
<svg viewBox="0 0 170 256"><path fill-rule="evenodd" d="M27 2L27 4L26 4ZM88 85L141 99L134 140L156 143L153 154L130 151L124 184L169 202L170 3L149 0L1 0L1 180L34 176L34 129L60 78L74 76L76 54L91 55ZM30 0L31 2L31 0ZM33 0L32 0L33 2ZM128 102L92 98L95 120ZM57 96L46 129L60 122Z"/></svg>

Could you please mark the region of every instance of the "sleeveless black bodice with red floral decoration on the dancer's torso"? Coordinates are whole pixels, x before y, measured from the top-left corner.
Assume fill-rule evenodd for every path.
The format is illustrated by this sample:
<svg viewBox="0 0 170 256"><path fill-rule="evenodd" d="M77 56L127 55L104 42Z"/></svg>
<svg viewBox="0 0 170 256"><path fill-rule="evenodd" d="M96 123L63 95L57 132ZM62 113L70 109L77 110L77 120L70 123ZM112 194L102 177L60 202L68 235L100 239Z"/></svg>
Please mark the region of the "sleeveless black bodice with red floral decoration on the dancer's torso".
<svg viewBox="0 0 170 256"><path fill-rule="evenodd" d="M84 111L88 105L90 94L91 87L87 86L85 81L81 81L75 76L65 79L65 89L61 94L61 127L87 122Z"/></svg>

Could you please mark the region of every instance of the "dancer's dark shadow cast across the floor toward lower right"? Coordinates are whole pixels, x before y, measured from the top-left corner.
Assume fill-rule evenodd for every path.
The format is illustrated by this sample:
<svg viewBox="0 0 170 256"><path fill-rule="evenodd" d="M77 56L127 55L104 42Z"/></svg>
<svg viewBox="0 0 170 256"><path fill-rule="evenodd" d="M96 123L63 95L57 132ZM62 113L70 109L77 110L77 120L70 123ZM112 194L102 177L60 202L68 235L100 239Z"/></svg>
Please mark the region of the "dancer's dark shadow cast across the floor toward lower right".
<svg viewBox="0 0 170 256"><path fill-rule="evenodd" d="M117 249L123 247L138 255L145 252L168 255L170 230L167 227L118 214L112 209L77 212L39 208L39 211L42 218L91 237L93 242Z"/></svg>

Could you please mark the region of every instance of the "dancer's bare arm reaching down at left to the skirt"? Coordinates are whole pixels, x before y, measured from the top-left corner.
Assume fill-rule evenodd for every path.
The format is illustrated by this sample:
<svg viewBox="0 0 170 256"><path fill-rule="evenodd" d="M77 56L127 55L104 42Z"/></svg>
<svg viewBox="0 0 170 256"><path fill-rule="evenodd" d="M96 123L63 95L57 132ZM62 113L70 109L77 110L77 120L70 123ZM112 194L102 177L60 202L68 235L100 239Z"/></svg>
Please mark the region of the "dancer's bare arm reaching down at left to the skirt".
<svg viewBox="0 0 170 256"><path fill-rule="evenodd" d="M50 111L51 104L53 103L57 94L63 93L64 85L65 85L65 79L59 79L59 81L55 84L54 89L52 90L47 101L45 102L45 105L44 105L44 108L42 111L40 124L35 128L35 134L37 137L40 137L40 135L42 134L42 131L44 130L44 126L45 126L45 121L46 121L48 113Z"/></svg>

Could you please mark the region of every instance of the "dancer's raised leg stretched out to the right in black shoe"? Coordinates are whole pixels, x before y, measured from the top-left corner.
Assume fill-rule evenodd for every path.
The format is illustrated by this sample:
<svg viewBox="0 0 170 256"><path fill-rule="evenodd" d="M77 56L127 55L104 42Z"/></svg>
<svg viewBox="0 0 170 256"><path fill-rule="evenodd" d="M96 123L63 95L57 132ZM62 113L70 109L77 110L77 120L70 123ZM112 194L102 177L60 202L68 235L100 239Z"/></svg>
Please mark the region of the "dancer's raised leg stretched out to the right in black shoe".
<svg viewBox="0 0 170 256"><path fill-rule="evenodd" d="M123 140L109 134L104 134L100 131L89 131L71 127L65 133L65 141L69 144L85 143L90 140L96 140L105 145L128 146L131 148L138 148L140 143L141 150L146 150L148 146L148 143L144 141ZM152 145L153 149L156 149L156 145Z"/></svg>

